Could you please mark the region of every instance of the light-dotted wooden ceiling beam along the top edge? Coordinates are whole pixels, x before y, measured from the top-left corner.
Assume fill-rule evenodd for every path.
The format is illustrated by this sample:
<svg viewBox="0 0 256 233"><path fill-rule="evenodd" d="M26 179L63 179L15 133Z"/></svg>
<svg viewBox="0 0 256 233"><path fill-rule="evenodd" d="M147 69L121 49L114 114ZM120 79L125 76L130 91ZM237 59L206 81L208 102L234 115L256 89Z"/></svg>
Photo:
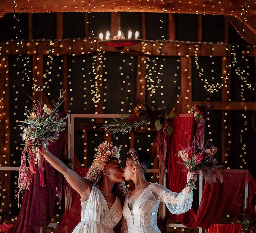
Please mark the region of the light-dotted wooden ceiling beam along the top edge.
<svg viewBox="0 0 256 233"><path fill-rule="evenodd" d="M17 12L43 13L43 12L86 12L89 10L88 1L70 0L19 0L16 2ZM186 14L216 14L216 15L240 15L244 13L247 0L190 0L190 1L166 1L167 13ZM164 1L147 0L97 0L91 1L92 12L163 12ZM1 12L13 12L12 0L0 1ZM256 4L251 1L248 15L256 14Z"/></svg>

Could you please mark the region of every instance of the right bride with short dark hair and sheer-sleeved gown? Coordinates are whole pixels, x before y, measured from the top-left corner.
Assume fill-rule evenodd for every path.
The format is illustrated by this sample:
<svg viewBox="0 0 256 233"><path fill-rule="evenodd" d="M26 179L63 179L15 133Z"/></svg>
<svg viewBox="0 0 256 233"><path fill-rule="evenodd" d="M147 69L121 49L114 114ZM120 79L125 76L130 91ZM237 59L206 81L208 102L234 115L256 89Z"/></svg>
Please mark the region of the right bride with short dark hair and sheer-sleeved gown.
<svg viewBox="0 0 256 233"><path fill-rule="evenodd" d="M160 201L173 214L185 213L192 206L192 190L184 188L181 193L176 193L146 181L144 174L149 164L147 152L134 148L129 150L124 177L125 180L133 180L135 187L127 192L124 201L122 233L161 233L156 222ZM187 179L190 178L196 181L197 175L189 172Z"/></svg>

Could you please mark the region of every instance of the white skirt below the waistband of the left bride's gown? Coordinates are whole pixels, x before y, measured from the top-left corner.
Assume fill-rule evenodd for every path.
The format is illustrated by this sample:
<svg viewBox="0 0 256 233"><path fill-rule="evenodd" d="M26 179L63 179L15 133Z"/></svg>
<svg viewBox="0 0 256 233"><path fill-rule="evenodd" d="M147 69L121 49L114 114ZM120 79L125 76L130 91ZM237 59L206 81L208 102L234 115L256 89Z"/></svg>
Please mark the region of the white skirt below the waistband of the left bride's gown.
<svg viewBox="0 0 256 233"><path fill-rule="evenodd" d="M81 221L77 224L73 233L115 233L113 228L101 223Z"/></svg>

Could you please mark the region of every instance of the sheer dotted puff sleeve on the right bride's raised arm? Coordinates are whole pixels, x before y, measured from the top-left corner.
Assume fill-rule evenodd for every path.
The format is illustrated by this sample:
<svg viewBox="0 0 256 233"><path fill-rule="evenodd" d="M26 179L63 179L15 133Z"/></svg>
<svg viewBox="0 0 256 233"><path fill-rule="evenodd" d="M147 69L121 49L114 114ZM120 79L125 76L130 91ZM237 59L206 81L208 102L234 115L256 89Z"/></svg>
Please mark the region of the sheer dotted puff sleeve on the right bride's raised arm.
<svg viewBox="0 0 256 233"><path fill-rule="evenodd" d="M153 183L151 191L157 201L162 201L172 214L182 214L191 209L193 202L193 192L185 192L185 188L180 192L172 192L166 187Z"/></svg>

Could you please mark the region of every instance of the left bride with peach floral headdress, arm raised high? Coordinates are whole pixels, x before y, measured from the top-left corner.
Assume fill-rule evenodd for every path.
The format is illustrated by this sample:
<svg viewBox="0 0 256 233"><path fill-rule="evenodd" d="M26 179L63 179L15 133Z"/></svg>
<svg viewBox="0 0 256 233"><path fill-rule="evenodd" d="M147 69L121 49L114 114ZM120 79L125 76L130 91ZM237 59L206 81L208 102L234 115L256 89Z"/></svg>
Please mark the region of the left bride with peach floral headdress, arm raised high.
<svg viewBox="0 0 256 233"><path fill-rule="evenodd" d="M113 147L112 142L100 143L87 176L83 178L48 151L43 142L41 145L40 152L45 159L81 196L81 222L73 233L118 232L115 227L120 222L123 208L120 199L123 201L126 192L119 163L121 146Z"/></svg>

